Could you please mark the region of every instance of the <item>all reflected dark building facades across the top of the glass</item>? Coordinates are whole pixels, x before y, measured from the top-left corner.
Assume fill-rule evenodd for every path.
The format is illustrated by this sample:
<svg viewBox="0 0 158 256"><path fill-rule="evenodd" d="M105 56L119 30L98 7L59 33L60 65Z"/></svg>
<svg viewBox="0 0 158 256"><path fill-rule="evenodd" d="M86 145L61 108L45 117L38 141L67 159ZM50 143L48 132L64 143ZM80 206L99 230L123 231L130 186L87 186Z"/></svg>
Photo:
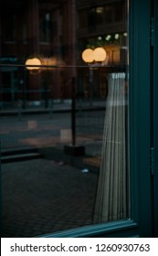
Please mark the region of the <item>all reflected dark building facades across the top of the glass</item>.
<svg viewBox="0 0 158 256"><path fill-rule="evenodd" d="M73 65L76 58L83 64L81 51L97 45L106 48L109 63L122 62L126 43L124 2L5 0L1 4L0 62L24 64L28 57L37 56L44 65ZM80 70L78 74L81 76ZM46 91L50 98L69 97L71 76L72 69L65 68L42 69L35 76L24 68L1 68L1 101L41 100Z"/></svg>

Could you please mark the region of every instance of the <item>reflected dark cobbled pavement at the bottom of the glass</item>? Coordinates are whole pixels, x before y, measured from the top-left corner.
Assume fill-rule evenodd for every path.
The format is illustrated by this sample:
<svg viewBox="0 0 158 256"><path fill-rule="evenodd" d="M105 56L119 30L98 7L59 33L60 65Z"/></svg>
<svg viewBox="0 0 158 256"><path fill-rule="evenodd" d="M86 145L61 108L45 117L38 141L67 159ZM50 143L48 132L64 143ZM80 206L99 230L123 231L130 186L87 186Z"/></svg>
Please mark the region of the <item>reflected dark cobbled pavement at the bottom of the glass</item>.
<svg viewBox="0 0 158 256"><path fill-rule="evenodd" d="M2 165L2 237L34 237L90 225L97 181L97 173L53 160Z"/></svg>

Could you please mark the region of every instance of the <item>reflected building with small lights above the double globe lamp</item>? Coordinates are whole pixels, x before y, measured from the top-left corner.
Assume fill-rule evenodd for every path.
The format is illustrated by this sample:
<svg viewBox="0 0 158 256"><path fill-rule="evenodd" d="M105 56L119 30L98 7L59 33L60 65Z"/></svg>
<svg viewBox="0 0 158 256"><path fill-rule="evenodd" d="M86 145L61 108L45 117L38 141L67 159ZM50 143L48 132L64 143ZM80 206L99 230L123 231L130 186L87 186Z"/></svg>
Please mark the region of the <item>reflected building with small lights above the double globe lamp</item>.
<svg viewBox="0 0 158 256"><path fill-rule="evenodd" d="M79 50L101 46L108 53L108 63L123 63L127 46L127 17L124 0L77 1Z"/></svg>

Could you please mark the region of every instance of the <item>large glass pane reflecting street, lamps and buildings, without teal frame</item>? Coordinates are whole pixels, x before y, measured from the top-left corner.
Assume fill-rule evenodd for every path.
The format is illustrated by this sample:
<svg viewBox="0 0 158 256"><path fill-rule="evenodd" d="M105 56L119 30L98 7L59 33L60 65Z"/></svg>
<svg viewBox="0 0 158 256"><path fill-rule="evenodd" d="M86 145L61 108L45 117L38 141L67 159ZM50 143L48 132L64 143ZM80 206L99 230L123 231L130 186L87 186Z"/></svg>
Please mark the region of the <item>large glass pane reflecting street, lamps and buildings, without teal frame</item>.
<svg viewBox="0 0 158 256"><path fill-rule="evenodd" d="M3 237L130 217L127 4L3 1Z"/></svg>

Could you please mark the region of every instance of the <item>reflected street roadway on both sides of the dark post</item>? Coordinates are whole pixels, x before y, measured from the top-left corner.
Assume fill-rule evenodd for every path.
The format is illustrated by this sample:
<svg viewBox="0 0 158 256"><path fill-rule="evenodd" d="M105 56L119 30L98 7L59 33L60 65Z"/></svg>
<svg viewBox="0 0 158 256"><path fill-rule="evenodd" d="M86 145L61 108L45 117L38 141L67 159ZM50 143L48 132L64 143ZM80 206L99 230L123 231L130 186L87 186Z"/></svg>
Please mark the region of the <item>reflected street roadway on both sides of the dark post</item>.
<svg viewBox="0 0 158 256"><path fill-rule="evenodd" d="M96 144L102 139L104 112L78 112L77 144ZM1 149L71 144L70 112L1 117ZM96 146L97 149L97 146Z"/></svg>

